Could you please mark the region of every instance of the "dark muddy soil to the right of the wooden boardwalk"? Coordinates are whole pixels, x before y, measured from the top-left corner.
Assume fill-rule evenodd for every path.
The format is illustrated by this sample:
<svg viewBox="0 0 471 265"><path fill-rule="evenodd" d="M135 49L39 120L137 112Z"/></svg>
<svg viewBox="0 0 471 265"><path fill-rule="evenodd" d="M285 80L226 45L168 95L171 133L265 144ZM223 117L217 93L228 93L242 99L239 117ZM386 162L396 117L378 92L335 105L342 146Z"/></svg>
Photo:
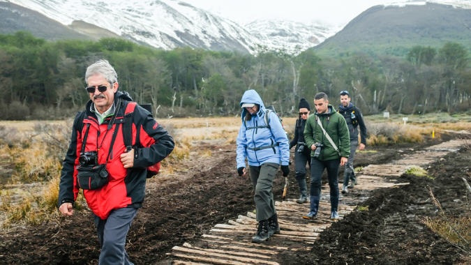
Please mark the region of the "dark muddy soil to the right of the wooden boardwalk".
<svg viewBox="0 0 471 265"><path fill-rule="evenodd" d="M449 153L430 165L429 176L403 174L410 185L374 190L344 220L324 231L309 252L284 255L281 264L469 264L454 245L428 229L422 221L438 217L430 189L447 215L470 217L466 188L470 181L471 150ZM353 194L355 196L354 189Z"/></svg>

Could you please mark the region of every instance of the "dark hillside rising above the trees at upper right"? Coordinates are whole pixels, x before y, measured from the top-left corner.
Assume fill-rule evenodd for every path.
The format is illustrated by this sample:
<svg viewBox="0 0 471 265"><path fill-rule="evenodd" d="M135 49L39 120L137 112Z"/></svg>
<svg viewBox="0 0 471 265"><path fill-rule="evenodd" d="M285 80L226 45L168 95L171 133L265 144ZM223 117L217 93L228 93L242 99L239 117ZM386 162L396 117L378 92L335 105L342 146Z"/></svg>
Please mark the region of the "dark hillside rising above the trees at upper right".
<svg viewBox="0 0 471 265"><path fill-rule="evenodd" d="M414 45L441 47L453 41L471 49L470 10L426 3L414 6L374 6L345 28L313 47L320 55L362 51L403 56Z"/></svg>

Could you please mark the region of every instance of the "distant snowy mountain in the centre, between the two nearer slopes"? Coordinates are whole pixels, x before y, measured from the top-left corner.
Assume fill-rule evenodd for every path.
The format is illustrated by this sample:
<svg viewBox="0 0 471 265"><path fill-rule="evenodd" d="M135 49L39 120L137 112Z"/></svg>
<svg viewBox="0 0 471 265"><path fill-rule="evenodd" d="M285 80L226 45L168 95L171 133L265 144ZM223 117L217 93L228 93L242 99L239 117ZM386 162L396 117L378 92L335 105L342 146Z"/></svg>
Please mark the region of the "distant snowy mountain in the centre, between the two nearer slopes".
<svg viewBox="0 0 471 265"><path fill-rule="evenodd" d="M292 54L298 54L334 36L342 27L286 20L255 20L246 24L246 29L270 50L285 49Z"/></svg>

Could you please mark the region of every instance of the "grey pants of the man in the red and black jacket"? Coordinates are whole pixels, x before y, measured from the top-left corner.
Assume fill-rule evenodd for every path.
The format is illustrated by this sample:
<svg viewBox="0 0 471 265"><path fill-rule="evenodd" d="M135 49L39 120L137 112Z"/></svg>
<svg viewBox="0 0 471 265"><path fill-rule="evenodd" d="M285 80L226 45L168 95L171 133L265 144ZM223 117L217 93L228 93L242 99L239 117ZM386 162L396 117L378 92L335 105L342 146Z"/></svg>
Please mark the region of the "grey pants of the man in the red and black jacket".
<svg viewBox="0 0 471 265"><path fill-rule="evenodd" d="M112 210L105 220L94 215L96 234L101 248L99 265L133 265L129 262L124 245L136 213L137 209L121 208Z"/></svg>

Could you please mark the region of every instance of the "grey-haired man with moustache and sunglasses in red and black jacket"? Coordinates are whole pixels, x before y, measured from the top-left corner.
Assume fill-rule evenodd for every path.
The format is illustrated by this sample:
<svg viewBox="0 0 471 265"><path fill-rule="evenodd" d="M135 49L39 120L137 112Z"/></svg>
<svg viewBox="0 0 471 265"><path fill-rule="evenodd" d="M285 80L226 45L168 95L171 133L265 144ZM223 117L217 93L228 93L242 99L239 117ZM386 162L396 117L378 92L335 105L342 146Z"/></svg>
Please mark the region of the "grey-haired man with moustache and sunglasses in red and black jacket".
<svg viewBox="0 0 471 265"><path fill-rule="evenodd" d="M117 73L108 61L100 60L87 68L85 80L90 101L73 123L59 184L59 211L72 215L82 188L94 213L101 247L99 264L132 264L124 245L144 201L146 168L166 158L174 149L174 141L147 110L136 105L132 124L126 125L132 126L133 139L133 149L127 151L123 129L129 119L125 114L128 105L134 103L129 104L132 99L128 93L118 91ZM96 178L101 181L98 188L96 179L84 181L83 176L91 176L83 172L85 168L104 169Z"/></svg>

